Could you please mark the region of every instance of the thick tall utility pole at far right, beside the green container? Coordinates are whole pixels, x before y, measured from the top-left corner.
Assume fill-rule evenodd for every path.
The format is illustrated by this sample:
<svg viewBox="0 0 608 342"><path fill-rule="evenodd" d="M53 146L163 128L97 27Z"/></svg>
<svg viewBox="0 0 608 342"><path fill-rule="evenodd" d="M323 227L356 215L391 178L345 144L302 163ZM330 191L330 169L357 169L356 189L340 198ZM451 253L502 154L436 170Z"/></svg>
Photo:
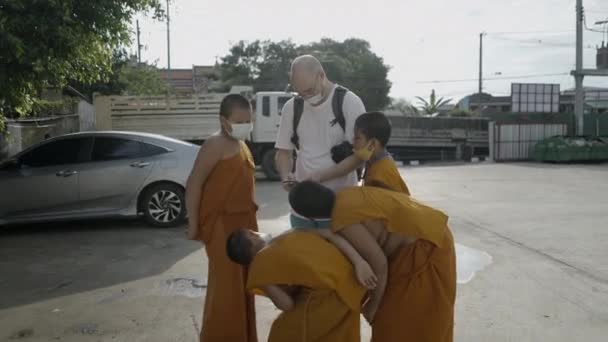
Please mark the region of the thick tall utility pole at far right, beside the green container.
<svg viewBox="0 0 608 342"><path fill-rule="evenodd" d="M583 89L583 0L576 0L576 71L574 73L575 95L574 115L576 117L576 134L583 135L583 115L585 111L585 91Z"/></svg>

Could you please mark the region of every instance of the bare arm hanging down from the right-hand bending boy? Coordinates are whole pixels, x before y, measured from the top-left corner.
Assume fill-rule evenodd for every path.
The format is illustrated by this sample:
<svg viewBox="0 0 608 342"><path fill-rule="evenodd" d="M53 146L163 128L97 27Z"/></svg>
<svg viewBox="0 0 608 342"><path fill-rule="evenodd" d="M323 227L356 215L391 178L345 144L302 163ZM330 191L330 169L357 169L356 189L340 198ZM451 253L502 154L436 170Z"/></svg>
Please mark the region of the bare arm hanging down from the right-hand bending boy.
<svg viewBox="0 0 608 342"><path fill-rule="evenodd" d="M355 224L346 227L340 231L342 235L350 244L359 252L359 254L365 259L378 278L376 288L372 291L369 301L365 307L364 312L367 314L366 318L369 321L374 319L376 311L384 296L384 290L386 289L386 281L388 275L388 262L384 251L378 245L378 242L370 234L367 228L361 224Z"/></svg>

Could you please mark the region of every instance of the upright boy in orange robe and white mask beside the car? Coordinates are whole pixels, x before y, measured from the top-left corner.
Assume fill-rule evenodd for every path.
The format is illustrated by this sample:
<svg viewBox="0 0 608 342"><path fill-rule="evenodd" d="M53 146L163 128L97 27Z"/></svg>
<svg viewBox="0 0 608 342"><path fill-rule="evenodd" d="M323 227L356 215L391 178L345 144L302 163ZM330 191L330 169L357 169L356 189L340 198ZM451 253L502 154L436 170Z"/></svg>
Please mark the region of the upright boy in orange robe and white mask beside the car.
<svg viewBox="0 0 608 342"><path fill-rule="evenodd" d="M220 106L221 132L205 141L188 179L188 237L205 245L209 259L200 340L256 342L255 303L247 269L226 256L226 240L241 228L257 231L255 164L244 140L251 134L251 105L228 95Z"/></svg>

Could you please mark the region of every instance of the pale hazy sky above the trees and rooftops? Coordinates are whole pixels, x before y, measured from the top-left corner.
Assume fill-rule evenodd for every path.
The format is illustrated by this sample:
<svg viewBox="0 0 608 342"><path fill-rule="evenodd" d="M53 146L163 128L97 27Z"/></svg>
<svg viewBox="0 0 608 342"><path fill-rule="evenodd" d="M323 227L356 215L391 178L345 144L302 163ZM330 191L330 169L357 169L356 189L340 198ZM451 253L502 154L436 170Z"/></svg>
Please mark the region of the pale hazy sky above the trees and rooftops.
<svg viewBox="0 0 608 342"><path fill-rule="evenodd" d="M428 97L435 89L438 96L457 101L477 92L479 34L486 32L485 92L508 95L512 82L560 83L564 90L574 85L569 72L575 63L575 4L575 0L171 0L171 67L211 65L239 40L291 39L303 44L324 37L355 37L369 41L390 66L392 97L413 100ZM589 28L601 30L594 23L608 18L608 1L584 0L584 6ZM166 23L143 14L138 19L145 46L142 60L165 68ZM602 33L585 31L585 67L595 67L595 46L602 38L606 39ZM527 78L505 79L521 76ZM608 87L608 78L587 77L585 86Z"/></svg>

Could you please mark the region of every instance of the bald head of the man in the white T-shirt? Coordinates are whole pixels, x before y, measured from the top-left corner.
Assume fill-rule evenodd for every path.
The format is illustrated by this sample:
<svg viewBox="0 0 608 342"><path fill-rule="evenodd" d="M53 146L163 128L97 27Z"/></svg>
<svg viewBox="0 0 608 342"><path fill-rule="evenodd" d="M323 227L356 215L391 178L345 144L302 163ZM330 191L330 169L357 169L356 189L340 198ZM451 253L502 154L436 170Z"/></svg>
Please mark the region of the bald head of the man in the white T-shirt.
<svg viewBox="0 0 608 342"><path fill-rule="evenodd" d="M326 82L325 70L314 56L299 56L291 63L291 84L304 99L322 94Z"/></svg>

